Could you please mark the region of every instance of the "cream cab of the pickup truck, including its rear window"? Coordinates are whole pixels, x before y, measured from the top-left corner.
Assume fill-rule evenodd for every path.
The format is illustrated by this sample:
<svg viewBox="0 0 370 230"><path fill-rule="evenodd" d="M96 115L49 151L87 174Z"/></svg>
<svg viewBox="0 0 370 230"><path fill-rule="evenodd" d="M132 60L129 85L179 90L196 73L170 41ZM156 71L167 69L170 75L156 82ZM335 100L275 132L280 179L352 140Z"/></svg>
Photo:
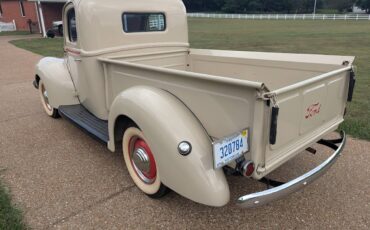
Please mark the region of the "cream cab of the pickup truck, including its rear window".
<svg viewBox="0 0 370 230"><path fill-rule="evenodd" d="M82 0L64 7L70 75L81 103L100 119L108 119L108 108L99 57L189 47L187 18L180 1L145 1L145 10L142 4ZM97 72L101 77L92 78Z"/></svg>

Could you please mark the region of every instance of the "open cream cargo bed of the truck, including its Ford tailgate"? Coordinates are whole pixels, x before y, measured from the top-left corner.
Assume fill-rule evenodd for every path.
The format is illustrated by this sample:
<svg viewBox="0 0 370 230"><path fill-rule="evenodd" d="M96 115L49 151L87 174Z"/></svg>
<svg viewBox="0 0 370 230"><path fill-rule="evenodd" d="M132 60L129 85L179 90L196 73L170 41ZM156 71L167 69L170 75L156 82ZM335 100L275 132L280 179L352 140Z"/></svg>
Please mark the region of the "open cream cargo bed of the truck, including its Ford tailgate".
<svg viewBox="0 0 370 230"><path fill-rule="evenodd" d="M354 57L171 49L100 60L107 108L125 88L169 91L214 140L250 128L248 157L263 165L262 177L343 121ZM280 109L276 143L269 143L273 105L261 94L275 95Z"/></svg>

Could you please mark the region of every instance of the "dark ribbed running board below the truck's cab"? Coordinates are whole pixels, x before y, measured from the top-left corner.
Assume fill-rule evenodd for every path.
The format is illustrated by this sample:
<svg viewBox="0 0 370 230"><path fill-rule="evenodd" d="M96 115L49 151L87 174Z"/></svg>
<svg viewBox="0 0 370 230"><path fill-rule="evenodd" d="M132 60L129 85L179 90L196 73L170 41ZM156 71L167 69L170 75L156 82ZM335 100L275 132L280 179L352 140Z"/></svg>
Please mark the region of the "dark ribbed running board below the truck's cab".
<svg viewBox="0 0 370 230"><path fill-rule="evenodd" d="M60 116L72 122L87 134L99 141L108 143L108 121L95 117L82 105L62 105L59 106L58 111Z"/></svg>

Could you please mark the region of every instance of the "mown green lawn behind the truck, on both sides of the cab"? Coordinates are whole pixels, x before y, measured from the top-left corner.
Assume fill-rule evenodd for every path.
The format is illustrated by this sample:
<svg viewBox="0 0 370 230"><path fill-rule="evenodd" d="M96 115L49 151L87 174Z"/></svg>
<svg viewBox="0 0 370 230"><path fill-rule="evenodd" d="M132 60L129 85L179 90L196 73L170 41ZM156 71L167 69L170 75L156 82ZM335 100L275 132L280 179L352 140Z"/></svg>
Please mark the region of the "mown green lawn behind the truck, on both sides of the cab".
<svg viewBox="0 0 370 230"><path fill-rule="evenodd" d="M194 48L356 56L354 100L341 125L353 137L370 140L370 22L189 19ZM44 56L63 56L63 40L12 43Z"/></svg>

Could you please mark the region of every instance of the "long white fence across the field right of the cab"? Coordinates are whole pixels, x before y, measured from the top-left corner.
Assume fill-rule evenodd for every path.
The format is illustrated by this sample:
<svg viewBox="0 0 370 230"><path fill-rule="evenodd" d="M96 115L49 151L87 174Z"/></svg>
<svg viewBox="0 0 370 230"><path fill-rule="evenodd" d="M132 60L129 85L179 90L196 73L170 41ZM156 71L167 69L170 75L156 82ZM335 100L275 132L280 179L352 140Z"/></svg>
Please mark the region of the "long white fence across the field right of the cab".
<svg viewBox="0 0 370 230"><path fill-rule="evenodd" d="M231 18L248 20L368 20L370 14L207 14L188 13L191 18Z"/></svg>

